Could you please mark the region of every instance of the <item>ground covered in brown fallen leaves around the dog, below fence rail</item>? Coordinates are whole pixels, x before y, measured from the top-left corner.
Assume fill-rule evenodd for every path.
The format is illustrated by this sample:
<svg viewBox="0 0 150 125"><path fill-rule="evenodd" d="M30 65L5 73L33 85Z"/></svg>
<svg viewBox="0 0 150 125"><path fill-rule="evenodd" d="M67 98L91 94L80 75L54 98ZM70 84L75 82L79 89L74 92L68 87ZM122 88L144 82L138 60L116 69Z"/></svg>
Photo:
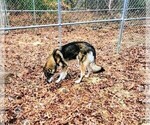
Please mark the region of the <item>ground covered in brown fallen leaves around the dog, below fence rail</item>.
<svg viewBox="0 0 150 125"><path fill-rule="evenodd" d="M45 61L58 44L58 29L11 31L5 36L5 107L3 123L13 125L139 125L144 122L145 27L126 27L116 53L116 26L63 27L62 44L84 40L97 52L105 72L80 84L76 61L67 79L47 84ZM59 72L59 70L58 70ZM58 75L58 72L56 76Z"/></svg>

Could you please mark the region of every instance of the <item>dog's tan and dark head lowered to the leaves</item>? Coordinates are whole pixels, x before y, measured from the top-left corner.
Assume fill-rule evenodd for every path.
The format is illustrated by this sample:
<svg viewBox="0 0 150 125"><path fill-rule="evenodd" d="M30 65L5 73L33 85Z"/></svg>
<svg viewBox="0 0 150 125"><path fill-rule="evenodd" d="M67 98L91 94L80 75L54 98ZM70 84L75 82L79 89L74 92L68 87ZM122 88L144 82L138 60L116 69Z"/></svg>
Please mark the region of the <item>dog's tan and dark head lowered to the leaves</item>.
<svg viewBox="0 0 150 125"><path fill-rule="evenodd" d="M47 62L43 68L44 75L45 75L48 83L53 80L53 75L55 74L56 69L57 69L57 64L55 62L53 54L51 54L48 57Z"/></svg>

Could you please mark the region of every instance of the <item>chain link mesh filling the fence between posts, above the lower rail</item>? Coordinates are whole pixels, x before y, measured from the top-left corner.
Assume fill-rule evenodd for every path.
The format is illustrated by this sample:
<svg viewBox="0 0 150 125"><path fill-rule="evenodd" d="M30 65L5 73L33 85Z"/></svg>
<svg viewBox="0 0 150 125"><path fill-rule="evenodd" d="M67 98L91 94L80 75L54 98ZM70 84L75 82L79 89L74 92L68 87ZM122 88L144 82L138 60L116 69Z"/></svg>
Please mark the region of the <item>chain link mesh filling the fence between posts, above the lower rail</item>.
<svg viewBox="0 0 150 125"><path fill-rule="evenodd" d="M146 1L129 0L126 18L146 17ZM58 23L57 0L5 0L5 2L7 22L11 27ZM123 0L62 0L62 23L121 19L123 2Z"/></svg>

